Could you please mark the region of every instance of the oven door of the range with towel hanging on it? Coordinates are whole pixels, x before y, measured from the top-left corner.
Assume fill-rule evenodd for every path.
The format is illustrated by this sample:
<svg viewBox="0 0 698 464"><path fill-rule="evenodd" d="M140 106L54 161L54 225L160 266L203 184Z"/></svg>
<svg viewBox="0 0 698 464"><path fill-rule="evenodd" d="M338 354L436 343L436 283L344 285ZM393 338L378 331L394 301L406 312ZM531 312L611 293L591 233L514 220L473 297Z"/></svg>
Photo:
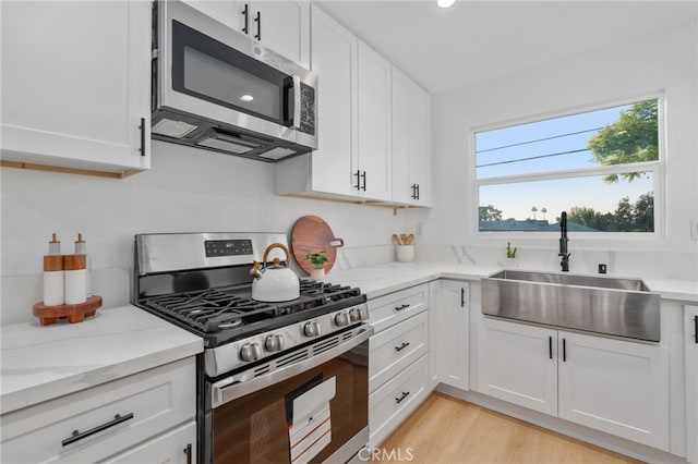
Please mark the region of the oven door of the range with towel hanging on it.
<svg viewBox="0 0 698 464"><path fill-rule="evenodd" d="M350 460L369 440L372 332L369 326L359 326L282 356L305 357L303 361L252 380L227 378L208 383L210 410L205 414L204 435L209 444L205 444L204 462ZM304 351L321 353L306 357ZM238 378L256 370L260 366Z"/></svg>

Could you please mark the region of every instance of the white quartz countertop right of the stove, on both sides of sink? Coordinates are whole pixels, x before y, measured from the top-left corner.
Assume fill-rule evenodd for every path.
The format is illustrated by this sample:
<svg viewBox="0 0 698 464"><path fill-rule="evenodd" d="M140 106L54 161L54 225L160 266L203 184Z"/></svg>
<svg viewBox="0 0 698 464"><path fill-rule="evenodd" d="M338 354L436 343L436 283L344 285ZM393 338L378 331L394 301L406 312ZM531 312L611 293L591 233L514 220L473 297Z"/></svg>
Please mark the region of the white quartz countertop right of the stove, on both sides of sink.
<svg viewBox="0 0 698 464"><path fill-rule="evenodd" d="M327 281L359 286L368 297L397 292L435 279L479 280L500 271L498 267L474 265L442 265L438 262L390 262L366 268L333 270ZM641 276L624 276L638 277ZM642 278L651 291L664 300L698 303L698 282L676 279Z"/></svg>

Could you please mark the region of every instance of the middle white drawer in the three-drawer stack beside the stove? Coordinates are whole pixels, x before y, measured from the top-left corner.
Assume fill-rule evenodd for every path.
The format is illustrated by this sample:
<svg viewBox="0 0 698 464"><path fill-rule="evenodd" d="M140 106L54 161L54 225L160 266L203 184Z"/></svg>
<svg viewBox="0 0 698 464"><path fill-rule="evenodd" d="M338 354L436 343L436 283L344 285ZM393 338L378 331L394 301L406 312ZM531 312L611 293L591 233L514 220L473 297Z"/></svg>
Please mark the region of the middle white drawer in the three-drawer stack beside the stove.
<svg viewBox="0 0 698 464"><path fill-rule="evenodd" d="M429 313L422 312L369 340L369 389L375 390L426 353Z"/></svg>

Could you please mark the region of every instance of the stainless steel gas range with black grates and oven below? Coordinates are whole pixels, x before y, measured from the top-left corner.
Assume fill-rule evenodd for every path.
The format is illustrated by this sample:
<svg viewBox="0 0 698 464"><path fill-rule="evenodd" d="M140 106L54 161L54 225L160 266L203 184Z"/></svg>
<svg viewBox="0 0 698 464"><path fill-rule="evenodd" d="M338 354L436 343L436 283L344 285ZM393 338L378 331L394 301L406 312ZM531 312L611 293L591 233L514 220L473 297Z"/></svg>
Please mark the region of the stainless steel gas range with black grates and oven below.
<svg viewBox="0 0 698 464"><path fill-rule="evenodd" d="M369 440L366 297L303 279L296 300L252 300L250 270L273 243L286 236L135 236L134 304L204 339L201 463L346 462Z"/></svg>

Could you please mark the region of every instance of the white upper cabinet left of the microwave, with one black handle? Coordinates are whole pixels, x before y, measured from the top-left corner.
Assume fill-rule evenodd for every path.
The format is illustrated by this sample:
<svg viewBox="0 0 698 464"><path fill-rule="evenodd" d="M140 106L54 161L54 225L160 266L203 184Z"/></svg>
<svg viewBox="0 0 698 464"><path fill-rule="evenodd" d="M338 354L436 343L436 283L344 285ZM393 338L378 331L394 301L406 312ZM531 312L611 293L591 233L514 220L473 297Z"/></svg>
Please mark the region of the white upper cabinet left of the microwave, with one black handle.
<svg viewBox="0 0 698 464"><path fill-rule="evenodd" d="M148 169L151 3L1 9L3 164L113 175Z"/></svg>

